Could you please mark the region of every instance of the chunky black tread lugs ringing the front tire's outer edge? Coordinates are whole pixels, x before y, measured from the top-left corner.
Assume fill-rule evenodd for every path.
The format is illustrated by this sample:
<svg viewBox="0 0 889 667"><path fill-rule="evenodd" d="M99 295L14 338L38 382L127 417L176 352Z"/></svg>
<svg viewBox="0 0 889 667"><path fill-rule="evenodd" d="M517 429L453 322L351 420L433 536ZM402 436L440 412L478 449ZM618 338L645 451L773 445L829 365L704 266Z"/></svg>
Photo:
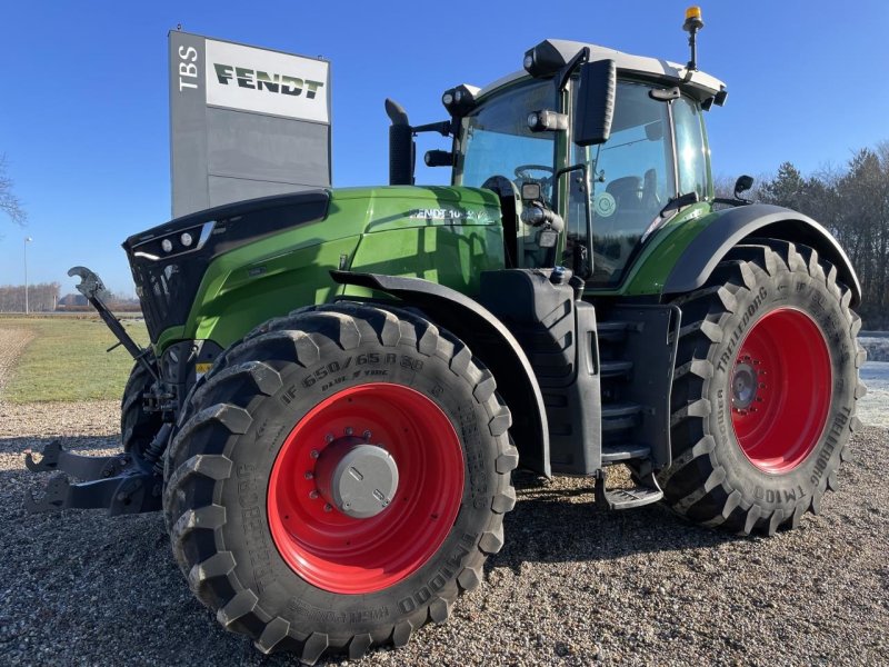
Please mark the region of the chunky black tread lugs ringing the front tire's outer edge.
<svg viewBox="0 0 889 667"><path fill-rule="evenodd" d="M343 641L317 631L301 636L284 619L267 614L261 599L236 577L234 558L223 547L224 511L220 515L212 506L214 485L232 474L232 462L222 451L203 452L203 444L224 442L246 432L252 419L246 409L250 396L273 394L287 364L309 366L319 359L324 345L333 342L348 350L369 336L387 347L410 340L419 354L443 358L451 372L469 382L489 416L487 428L498 447L497 484L490 490L492 511L475 548L463 558L456 583L442 587L416 615L391 626L384 636L360 633ZM510 426L511 415L496 392L491 372L462 341L417 313L351 302L299 309L248 334L192 389L167 452L164 518L173 554L198 598L218 610L227 629L250 635L262 653L294 649L303 663L313 664L328 650L358 659L374 645L402 646L421 625L443 623L455 599L481 581L486 558L503 545L503 514L516 502L511 472L519 462L508 436Z"/></svg>

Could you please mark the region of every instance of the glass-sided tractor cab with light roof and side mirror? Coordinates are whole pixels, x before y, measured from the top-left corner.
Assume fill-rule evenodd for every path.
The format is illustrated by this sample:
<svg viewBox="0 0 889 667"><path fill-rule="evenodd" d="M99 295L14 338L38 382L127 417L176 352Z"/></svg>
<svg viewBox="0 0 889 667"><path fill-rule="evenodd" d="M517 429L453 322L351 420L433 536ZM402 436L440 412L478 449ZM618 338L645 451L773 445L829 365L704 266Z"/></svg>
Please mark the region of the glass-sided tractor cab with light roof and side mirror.
<svg viewBox="0 0 889 667"><path fill-rule="evenodd" d="M591 67L601 63L613 67ZM443 97L457 126L452 182L498 193L512 267L561 263L590 287L615 287L681 205L712 197L702 111L726 90L686 66L546 40L525 71ZM606 131L578 137L585 122ZM537 200L522 195L537 192L528 185Z"/></svg>

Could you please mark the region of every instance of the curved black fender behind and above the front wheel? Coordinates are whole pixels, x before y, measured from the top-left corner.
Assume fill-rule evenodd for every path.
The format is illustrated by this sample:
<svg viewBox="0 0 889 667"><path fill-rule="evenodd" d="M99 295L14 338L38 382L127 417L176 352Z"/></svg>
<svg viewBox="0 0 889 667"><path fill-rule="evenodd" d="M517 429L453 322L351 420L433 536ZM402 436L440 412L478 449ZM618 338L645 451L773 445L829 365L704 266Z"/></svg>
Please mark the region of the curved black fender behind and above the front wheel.
<svg viewBox="0 0 889 667"><path fill-rule="evenodd" d="M469 345L493 374L497 390L512 412L510 435L520 465L550 476L549 427L540 386L518 340L497 317L466 295L429 280L349 271L330 275L339 283L384 292L419 308Z"/></svg>

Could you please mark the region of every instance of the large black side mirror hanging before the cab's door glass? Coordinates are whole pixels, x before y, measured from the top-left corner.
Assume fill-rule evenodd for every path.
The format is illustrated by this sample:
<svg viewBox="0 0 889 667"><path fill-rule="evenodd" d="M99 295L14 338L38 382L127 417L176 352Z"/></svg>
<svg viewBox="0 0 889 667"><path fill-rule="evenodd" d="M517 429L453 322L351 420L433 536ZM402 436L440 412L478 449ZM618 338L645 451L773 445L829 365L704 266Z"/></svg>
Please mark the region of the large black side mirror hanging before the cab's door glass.
<svg viewBox="0 0 889 667"><path fill-rule="evenodd" d="M617 68L613 60L580 66L580 89L575 108L573 135L578 146L605 143L615 116Z"/></svg>

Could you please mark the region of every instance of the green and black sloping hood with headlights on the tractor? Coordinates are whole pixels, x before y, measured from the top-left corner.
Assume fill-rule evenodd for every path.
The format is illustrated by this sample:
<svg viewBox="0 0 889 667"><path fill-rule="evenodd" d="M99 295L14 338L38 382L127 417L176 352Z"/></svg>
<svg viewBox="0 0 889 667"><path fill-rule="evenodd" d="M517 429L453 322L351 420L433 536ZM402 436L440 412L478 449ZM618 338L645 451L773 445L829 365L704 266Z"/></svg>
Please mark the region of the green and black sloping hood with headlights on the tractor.
<svg viewBox="0 0 889 667"><path fill-rule="evenodd" d="M278 283L284 276L330 282L328 271L349 268L364 238L416 228L447 235L499 222L497 197L475 188L309 190L190 213L131 236L123 249L157 341L162 331L186 325L202 301L236 288L243 298L247 291L259 298L258 283L268 289L264 279L272 276ZM242 290L247 283L250 290Z"/></svg>

